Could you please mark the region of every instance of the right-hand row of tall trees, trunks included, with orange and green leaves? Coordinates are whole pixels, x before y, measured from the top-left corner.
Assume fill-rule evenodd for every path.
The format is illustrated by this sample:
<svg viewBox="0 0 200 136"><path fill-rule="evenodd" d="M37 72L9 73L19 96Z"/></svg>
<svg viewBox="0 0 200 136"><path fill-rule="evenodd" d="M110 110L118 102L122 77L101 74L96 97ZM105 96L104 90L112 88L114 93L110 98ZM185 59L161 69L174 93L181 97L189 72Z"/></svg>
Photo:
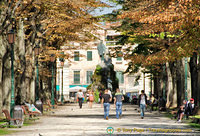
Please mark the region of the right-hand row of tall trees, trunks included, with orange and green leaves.
<svg viewBox="0 0 200 136"><path fill-rule="evenodd" d="M122 32L119 43L138 44L134 49L128 46L123 50L125 59L130 60L126 72L134 73L138 66L145 68L144 72L153 75L154 93L167 96L167 106L179 106L186 89L188 98L193 97L199 105L200 1L111 1L121 4L122 9L104 19L121 23L115 28ZM191 77L187 88L185 64L187 76Z"/></svg>

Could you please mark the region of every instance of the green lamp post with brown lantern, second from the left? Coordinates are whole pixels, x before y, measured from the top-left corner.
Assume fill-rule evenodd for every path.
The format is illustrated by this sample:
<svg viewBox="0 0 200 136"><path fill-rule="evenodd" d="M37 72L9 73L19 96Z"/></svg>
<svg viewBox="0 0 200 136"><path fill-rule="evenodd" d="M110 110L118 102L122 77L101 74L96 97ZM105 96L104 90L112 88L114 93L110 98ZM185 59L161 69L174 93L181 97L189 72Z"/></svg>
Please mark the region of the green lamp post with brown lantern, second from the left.
<svg viewBox="0 0 200 136"><path fill-rule="evenodd" d="M38 68L38 55L40 54L40 46L37 44L34 48L36 55L36 87L35 87L35 101L39 100L39 68Z"/></svg>

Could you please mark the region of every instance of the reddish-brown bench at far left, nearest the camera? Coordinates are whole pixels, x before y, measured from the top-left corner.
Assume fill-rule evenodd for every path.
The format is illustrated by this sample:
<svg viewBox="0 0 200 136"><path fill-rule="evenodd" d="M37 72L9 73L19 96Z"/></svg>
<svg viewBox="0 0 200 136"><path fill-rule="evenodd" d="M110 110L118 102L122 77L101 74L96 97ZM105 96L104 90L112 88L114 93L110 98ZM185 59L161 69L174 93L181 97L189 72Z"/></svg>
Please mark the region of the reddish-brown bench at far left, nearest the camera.
<svg viewBox="0 0 200 136"><path fill-rule="evenodd" d="M21 127L23 125L23 119L21 118L11 118L10 113L8 110L4 109L2 110L2 113L4 113L6 117L6 121L8 122L9 126L10 125L16 125L18 127Z"/></svg>

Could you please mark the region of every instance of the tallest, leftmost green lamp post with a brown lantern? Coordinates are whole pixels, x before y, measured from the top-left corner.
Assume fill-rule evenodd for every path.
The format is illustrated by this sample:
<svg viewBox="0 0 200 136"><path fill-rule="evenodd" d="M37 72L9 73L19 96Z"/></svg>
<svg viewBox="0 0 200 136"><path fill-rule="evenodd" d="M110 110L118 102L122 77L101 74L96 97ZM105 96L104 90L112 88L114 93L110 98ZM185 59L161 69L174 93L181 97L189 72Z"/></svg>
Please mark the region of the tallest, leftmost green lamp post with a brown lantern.
<svg viewBox="0 0 200 136"><path fill-rule="evenodd" d="M11 29L8 32L8 43L11 45L11 103L10 103L10 115L13 117L13 108L15 106L15 86L14 86L14 42L15 32Z"/></svg>

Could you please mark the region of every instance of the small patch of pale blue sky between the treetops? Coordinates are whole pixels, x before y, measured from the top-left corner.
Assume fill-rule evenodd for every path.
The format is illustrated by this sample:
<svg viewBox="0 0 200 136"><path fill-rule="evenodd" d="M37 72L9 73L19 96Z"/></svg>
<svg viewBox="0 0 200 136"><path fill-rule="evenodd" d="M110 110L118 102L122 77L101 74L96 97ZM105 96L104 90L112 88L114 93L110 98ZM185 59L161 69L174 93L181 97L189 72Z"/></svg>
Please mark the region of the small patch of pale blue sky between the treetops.
<svg viewBox="0 0 200 136"><path fill-rule="evenodd" d="M108 14L108 13L112 13L113 10L121 8L120 5L116 5L115 3L111 3L108 0L101 0L101 1L111 5L113 7L111 7L111 8L106 8L106 7L105 8L98 8L92 13L93 15L99 16L99 15L103 15L103 14Z"/></svg>

